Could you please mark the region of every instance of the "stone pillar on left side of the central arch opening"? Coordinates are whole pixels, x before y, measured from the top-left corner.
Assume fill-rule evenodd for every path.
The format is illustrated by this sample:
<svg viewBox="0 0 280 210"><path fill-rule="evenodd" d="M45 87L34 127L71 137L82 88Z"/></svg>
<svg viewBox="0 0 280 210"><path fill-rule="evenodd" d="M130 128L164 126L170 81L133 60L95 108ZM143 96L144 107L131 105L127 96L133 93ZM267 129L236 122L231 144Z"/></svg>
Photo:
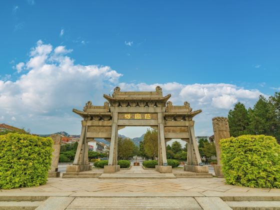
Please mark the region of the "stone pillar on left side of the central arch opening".
<svg viewBox="0 0 280 210"><path fill-rule="evenodd" d="M108 165L104 166L105 173L117 172L120 170L120 166L117 165L117 117L118 112L113 112L109 160Z"/></svg>

